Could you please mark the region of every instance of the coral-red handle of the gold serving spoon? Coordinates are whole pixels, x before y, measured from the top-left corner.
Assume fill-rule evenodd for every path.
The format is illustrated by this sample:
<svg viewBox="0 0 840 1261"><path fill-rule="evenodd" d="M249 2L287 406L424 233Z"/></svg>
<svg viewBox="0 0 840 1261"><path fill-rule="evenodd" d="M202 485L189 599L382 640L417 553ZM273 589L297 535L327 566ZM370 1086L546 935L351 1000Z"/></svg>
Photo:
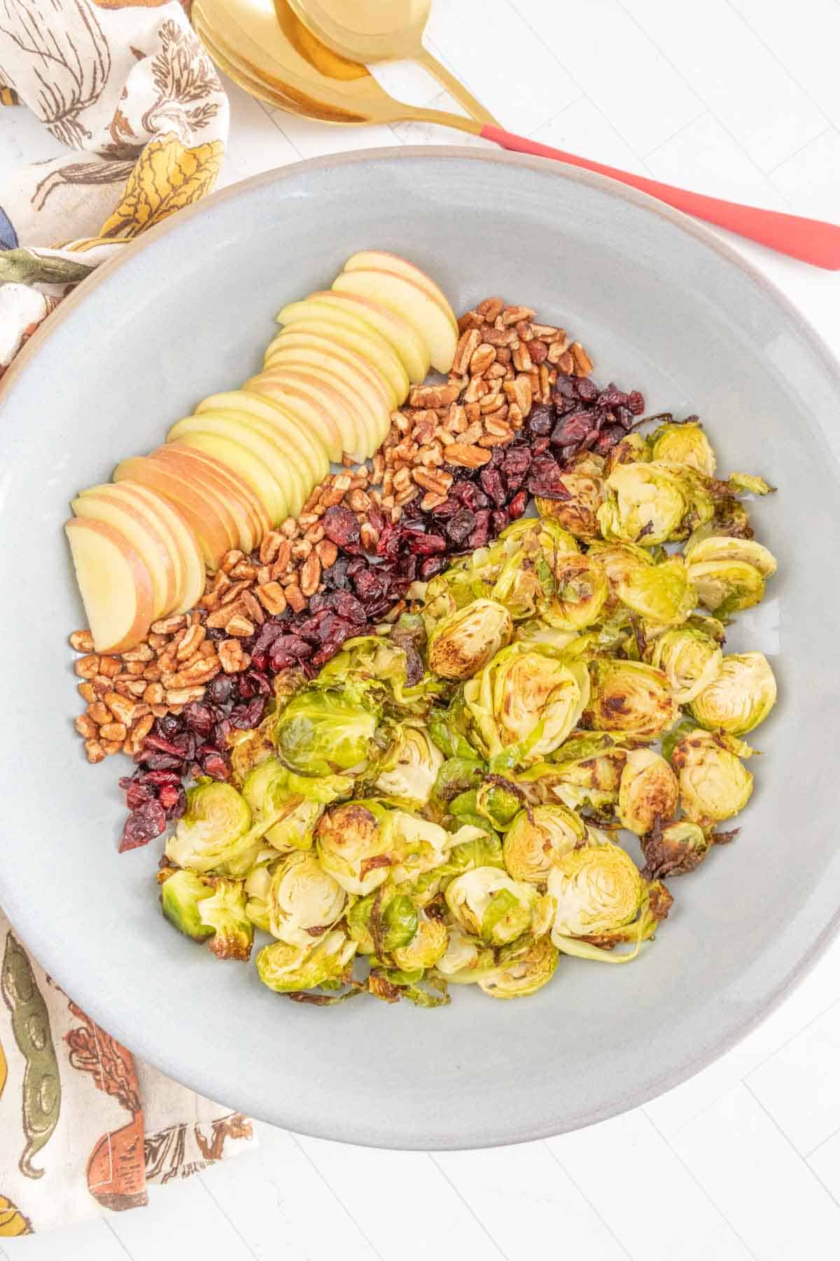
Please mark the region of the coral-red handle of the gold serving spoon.
<svg viewBox="0 0 840 1261"><path fill-rule="evenodd" d="M660 202L666 202L678 211L684 211L685 214L694 214L699 219L717 223L719 228L728 228L729 232L737 232L738 236L758 241L759 245L769 246L771 250L778 250L780 253L788 253L792 259L801 259L802 262L811 262L816 267L827 267L830 271L840 270L840 227L836 223L803 219L798 214L762 211L753 206L739 206L738 202L723 202L717 197L690 193L685 188L660 184L657 179L631 175L630 171L617 170L615 166L589 161L588 158L563 153L562 149L536 144L535 140L526 140L525 136L516 136L511 131L504 131L502 127L495 127L491 124L482 126L481 135L486 140L494 140L502 149L514 149L520 154L534 154L536 158L557 158L572 166L583 166L584 170L610 175L622 184L630 184L631 188L639 188L642 193L657 197Z"/></svg>

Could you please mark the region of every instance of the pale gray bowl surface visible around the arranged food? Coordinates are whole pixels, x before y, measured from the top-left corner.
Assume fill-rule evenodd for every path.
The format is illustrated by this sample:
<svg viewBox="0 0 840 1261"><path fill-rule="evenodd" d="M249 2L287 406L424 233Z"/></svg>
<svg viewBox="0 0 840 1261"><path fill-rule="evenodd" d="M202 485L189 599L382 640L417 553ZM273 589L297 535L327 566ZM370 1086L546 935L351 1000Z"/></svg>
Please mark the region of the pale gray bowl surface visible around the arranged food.
<svg viewBox="0 0 840 1261"><path fill-rule="evenodd" d="M375 246L463 310L534 306L596 381L649 412L699 412L780 571L730 643L773 661L756 793L734 845L671 881L632 967L560 960L524 1002L458 987L448 1008L298 1006L160 915L160 841L117 855L117 760L88 768L67 634L83 624L68 501L261 366L277 310ZM6 614L0 903L55 980L165 1072L246 1112L397 1148L534 1139L644 1102L720 1054L834 931L840 736L836 367L785 301L680 216L555 163L372 151L258 177L181 212L53 317L0 391Z"/></svg>

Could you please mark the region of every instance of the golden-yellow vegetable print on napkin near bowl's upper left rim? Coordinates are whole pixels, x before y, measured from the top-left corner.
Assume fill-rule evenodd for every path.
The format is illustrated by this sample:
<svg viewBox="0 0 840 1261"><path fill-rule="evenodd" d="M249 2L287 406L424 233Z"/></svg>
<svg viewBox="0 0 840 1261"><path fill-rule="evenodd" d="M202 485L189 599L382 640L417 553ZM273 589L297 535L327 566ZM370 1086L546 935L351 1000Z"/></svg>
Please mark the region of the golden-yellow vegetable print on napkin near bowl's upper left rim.
<svg viewBox="0 0 840 1261"><path fill-rule="evenodd" d="M133 237L209 193L219 174L220 140L186 149L178 136L150 140L128 177L122 200L99 238Z"/></svg>

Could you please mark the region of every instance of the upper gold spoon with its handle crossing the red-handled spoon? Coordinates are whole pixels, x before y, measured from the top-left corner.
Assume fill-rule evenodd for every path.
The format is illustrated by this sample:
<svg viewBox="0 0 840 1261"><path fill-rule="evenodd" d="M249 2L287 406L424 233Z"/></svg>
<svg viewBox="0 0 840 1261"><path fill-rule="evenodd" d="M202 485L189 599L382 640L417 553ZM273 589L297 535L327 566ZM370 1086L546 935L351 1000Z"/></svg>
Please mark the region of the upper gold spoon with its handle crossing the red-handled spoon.
<svg viewBox="0 0 840 1261"><path fill-rule="evenodd" d="M297 18L334 53L351 62L412 61L442 83L479 122L496 120L423 47L432 0L288 0Z"/></svg>

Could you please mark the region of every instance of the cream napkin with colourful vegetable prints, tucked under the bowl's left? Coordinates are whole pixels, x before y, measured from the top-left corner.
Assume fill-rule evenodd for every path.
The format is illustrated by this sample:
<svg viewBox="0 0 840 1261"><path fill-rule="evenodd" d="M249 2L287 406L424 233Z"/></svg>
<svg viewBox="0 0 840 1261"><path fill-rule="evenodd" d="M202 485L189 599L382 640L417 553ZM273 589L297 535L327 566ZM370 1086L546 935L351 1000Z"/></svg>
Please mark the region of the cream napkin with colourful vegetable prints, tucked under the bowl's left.
<svg viewBox="0 0 840 1261"><path fill-rule="evenodd" d="M0 0L0 105L19 102L82 153L0 175L0 376L122 242L213 188L228 131L184 9L160 0ZM239 1113L133 1061L0 912L0 1247L145 1204L149 1183L249 1137Z"/></svg>

